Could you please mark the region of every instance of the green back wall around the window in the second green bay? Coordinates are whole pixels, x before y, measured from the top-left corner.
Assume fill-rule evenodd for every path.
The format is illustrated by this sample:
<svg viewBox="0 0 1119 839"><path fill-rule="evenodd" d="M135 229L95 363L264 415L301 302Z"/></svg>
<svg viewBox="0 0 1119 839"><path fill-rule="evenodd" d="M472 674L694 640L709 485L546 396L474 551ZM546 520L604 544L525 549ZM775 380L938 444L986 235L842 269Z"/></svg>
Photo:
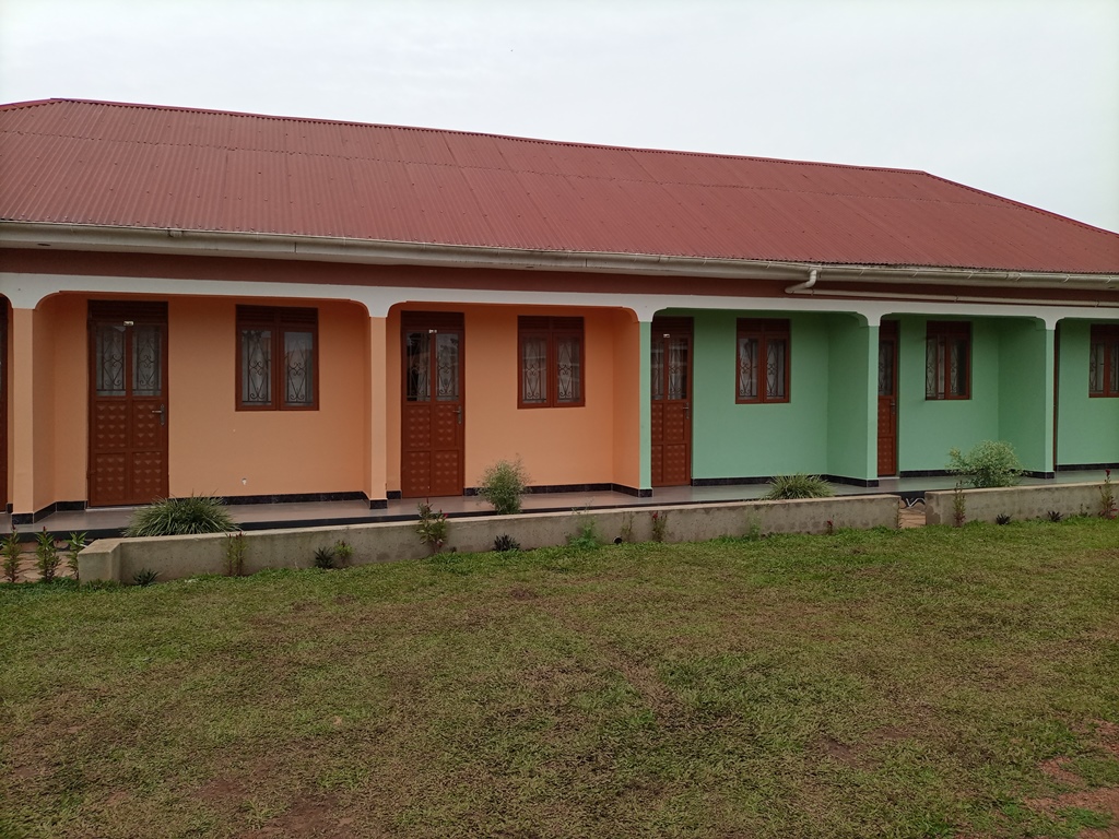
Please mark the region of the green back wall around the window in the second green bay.
<svg viewBox="0 0 1119 839"><path fill-rule="evenodd" d="M984 440L998 440L999 331L991 320L971 323L971 398L924 398L925 323L900 321L897 376L897 463L905 471L942 470L948 450L967 451Z"/></svg>

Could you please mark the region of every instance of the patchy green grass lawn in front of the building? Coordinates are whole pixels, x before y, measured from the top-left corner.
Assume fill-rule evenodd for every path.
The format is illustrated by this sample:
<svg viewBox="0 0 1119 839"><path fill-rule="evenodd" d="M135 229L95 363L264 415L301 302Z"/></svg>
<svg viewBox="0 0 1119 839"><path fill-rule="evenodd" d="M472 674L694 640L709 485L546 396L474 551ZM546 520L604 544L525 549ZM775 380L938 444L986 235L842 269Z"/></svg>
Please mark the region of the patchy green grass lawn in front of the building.
<svg viewBox="0 0 1119 839"><path fill-rule="evenodd" d="M1116 521L0 586L2 837L1088 837L1117 809Z"/></svg>

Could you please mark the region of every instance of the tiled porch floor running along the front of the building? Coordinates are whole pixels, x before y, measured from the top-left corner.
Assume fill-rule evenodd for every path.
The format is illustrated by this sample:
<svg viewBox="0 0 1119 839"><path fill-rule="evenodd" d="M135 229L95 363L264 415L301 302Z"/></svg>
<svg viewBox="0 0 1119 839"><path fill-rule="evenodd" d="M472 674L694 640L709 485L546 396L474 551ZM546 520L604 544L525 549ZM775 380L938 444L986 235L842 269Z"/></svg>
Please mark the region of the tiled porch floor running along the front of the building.
<svg viewBox="0 0 1119 839"><path fill-rule="evenodd" d="M1044 480L1023 478L1023 486L1045 483L1090 483L1102 482L1102 470L1087 472L1057 472L1056 478ZM927 491L951 489L956 479L938 478L885 478L878 487L852 487L833 484L838 496L896 494L906 500L918 499ZM525 512L555 512L558 510L593 510L611 507L665 507L674 505L720 503L725 501L750 501L761 498L769 486L765 483L735 484L730 487L661 487L651 498L634 498L622 492L538 492L524 498ZM245 530L266 530L286 527L320 527L327 525L359 525L374 521L399 521L416 517L417 499L389 501L384 510L370 510L365 501L314 501L294 503L232 505L229 511L234 520ZM449 517L487 516L491 508L472 496L451 496L431 499L436 510ZM21 532L28 535L46 528L48 532L65 538L72 531L85 531L90 538L119 536L132 515L131 507L112 507L87 510L54 512L44 516L34 525L23 525ZM11 516L0 517L0 534L11 532Z"/></svg>

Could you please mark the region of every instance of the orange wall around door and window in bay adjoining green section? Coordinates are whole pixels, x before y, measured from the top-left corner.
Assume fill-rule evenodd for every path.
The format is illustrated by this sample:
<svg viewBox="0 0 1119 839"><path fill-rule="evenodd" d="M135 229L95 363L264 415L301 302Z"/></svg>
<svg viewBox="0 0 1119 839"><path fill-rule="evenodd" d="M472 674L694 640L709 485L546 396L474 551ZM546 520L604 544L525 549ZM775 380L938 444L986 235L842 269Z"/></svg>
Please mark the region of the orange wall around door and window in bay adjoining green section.
<svg viewBox="0 0 1119 839"><path fill-rule="evenodd" d="M615 411L633 388L615 389L619 359L617 332L629 315L613 309L500 305L412 305L389 313L388 384L394 409L387 422L389 489L399 489L401 317L402 310L461 311L466 321L466 486L476 487L482 471L501 459L520 456L533 484L611 483L621 465L637 486L637 451L615 455ZM580 315L584 319L584 387L586 404L577 408L517 407L517 315ZM636 330L636 324L633 329ZM624 340L624 339L623 339ZM636 343L637 332L633 332ZM636 390L634 390L636 393ZM632 411L636 411L634 405ZM632 463L630 463L632 460ZM628 482L628 481L627 481Z"/></svg>

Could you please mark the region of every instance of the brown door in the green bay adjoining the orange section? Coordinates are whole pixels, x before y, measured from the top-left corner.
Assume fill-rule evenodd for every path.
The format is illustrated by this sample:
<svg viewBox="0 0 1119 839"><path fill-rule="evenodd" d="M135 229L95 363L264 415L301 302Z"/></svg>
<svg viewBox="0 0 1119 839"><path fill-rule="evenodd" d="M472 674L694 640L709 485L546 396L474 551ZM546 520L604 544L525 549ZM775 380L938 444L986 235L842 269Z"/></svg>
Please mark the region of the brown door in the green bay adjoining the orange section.
<svg viewBox="0 0 1119 839"><path fill-rule="evenodd" d="M650 339L652 486L692 483L692 319L655 320Z"/></svg>

